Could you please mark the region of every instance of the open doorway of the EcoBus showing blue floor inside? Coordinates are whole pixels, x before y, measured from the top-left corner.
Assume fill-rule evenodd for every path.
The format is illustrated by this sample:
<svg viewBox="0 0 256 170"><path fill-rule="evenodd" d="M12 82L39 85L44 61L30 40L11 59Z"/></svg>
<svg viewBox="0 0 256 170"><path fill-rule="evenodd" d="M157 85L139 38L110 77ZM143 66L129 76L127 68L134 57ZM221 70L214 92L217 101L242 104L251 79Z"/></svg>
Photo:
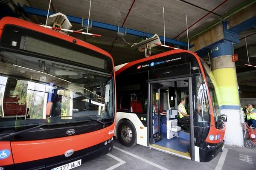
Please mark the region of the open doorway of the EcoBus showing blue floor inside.
<svg viewBox="0 0 256 170"><path fill-rule="evenodd" d="M194 128L191 77L148 82L148 146L194 160ZM178 122L177 106L186 100L190 124Z"/></svg>

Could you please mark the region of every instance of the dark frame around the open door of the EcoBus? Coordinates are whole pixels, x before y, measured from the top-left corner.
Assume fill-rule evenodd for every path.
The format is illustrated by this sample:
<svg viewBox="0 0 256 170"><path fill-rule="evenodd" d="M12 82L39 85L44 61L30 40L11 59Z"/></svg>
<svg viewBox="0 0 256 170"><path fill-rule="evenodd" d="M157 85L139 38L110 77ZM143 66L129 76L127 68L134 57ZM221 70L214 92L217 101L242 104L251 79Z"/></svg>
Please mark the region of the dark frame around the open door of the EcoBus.
<svg viewBox="0 0 256 170"><path fill-rule="evenodd" d="M151 116L151 101L152 101L152 85L155 83L161 83L161 82L174 82L179 80L188 80L189 84L189 109L190 109L190 156L191 160L195 160L195 136L194 136L194 112L193 112L193 102L194 98L192 96L192 75L186 75L186 77L168 77L167 79L153 79L148 81L148 114L147 114L147 146L152 142L151 132L153 130L153 126L151 125L152 122L152 116ZM160 127L159 127L160 130ZM151 141L149 141L151 140Z"/></svg>

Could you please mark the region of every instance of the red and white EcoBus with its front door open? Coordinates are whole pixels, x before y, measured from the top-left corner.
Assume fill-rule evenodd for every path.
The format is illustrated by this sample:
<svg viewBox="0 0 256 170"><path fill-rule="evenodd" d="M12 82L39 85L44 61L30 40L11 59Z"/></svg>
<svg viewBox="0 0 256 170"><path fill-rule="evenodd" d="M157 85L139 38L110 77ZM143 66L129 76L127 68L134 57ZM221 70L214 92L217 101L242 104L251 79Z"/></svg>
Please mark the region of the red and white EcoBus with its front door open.
<svg viewBox="0 0 256 170"><path fill-rule="evenodd" d="M115 67L116 133L127 147L141 144L206 162L224 147L215 79L195 53L172 50ZM190 121L180 119L184 107Z"/></svg>

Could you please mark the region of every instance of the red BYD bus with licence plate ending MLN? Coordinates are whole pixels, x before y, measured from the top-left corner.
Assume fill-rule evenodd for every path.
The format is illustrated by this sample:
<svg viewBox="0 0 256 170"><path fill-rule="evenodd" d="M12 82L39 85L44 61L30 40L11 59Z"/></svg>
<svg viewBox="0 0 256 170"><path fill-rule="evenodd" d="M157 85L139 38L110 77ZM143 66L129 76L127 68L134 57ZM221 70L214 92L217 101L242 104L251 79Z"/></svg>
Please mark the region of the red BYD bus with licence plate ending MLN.
<svg viewBox="0 0 256 170"><path fill-rule="evenodd" d="M110 54L12 17L0 20L0 169L70 170L112 150Z"/></svg>

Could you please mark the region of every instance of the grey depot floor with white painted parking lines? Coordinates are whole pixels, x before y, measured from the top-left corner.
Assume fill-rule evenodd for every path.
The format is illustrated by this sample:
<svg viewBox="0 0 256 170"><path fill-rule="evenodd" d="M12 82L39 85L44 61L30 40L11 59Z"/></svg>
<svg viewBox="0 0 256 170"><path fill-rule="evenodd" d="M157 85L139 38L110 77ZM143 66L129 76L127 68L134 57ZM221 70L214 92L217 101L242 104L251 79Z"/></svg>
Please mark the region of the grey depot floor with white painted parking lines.
<svg viewBox="0 0 256 170"><path fill-rule="evenodd" d="M256 149L225 145L224 152L201 163L172 156L141 145L124 147L118 140L111 153L74 170L256 170Z"/></svg>

